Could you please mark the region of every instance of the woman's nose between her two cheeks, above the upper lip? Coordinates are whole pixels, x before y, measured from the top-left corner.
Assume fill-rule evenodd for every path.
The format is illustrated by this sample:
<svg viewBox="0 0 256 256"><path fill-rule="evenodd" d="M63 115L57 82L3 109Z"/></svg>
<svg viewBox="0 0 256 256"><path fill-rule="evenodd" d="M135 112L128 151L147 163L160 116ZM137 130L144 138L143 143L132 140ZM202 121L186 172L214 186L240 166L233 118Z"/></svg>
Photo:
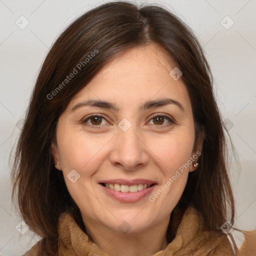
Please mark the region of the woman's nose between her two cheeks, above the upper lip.
<svg viewBox="0 0 256 256"><path fill-rule="evenodd" d="M123 131L118 128L109 159L115 166L124 170L135 171L148 163L148 148L142 134L133 126Z"/></svg>

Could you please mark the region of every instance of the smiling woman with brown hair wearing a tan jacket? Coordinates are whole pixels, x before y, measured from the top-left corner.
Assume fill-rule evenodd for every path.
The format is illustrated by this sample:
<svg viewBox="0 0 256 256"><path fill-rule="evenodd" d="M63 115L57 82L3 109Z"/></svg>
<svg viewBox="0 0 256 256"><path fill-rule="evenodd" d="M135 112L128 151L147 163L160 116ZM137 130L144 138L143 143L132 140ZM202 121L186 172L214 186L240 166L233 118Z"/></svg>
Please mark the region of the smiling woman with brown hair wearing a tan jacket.
<svg viewBox="0 0 256 256"><path fill-rule="evenodd" d="M225 149L182 21L127 2L84 13L47 54L18 141L13 192L42 237L24 255L254 255Z"/></svg>

